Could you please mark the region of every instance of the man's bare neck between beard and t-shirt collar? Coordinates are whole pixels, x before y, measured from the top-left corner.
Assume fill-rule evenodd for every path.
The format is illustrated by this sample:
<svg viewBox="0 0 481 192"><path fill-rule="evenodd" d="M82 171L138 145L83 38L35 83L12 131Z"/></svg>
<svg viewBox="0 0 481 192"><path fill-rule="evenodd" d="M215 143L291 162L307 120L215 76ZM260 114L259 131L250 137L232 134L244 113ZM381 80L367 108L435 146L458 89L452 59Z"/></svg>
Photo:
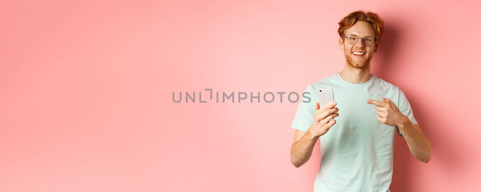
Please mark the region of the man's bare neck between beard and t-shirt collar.
<svg viewBox="0 0 481 192"><path fill-rule="evenodd" d="M349 83L361 84L371 79L369 63L364 68L353 68L346 63L344 70L339 72L342 79Z"/></svg>

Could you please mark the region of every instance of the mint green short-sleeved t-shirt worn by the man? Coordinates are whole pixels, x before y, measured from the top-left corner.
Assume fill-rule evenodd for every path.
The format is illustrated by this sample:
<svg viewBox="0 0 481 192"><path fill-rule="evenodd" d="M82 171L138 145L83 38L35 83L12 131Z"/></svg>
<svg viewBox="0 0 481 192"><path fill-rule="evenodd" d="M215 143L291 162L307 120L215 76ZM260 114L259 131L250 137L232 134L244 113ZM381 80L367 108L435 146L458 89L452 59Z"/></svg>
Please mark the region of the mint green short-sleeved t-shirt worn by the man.
<svg viewBox="0 0 481 192"><path fill-rule="evenodd" d="M318 90L334 90L339 116L329 131L319 137L321 165L314 192L390 192L394 136L397 128L377 120L375 105L367 100L390 99L413 124L411 106L399 87L371 74L365 83L353 84L335 73L311 83L307 98L299 103L291 128L307 132L313 123ZM323 106L321 106L322 108ZM402 134L397 130L397 134Z"/></svg>

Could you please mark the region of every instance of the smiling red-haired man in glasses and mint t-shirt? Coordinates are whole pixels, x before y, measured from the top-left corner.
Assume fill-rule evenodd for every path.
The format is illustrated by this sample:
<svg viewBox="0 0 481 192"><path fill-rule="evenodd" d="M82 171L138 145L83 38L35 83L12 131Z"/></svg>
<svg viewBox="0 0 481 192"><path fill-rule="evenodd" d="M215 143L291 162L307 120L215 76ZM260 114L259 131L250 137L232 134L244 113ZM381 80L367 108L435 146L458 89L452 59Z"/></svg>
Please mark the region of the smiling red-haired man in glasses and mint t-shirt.
<svg viewBox="0 0 481 192"><path fill-rule="evenodd" d="M291 126L296 129L291 162L295 167L307 162L319 139L314 192L390 192L396 131L425 163L431 158L430 142L404 92L369 72L384 21L376 13L354 11L339 26L344 70L307 86L311 102L300 102ZM319 88L333 89L335 102L319 106Z"/></svg>

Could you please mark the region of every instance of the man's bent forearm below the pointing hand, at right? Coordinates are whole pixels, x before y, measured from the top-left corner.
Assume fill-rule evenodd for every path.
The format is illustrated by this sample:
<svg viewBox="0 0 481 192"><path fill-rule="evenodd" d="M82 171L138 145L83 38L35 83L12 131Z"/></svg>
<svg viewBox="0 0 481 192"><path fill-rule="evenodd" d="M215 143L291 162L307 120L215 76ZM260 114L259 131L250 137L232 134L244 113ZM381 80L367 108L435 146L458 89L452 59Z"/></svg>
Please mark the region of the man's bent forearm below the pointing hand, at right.
<svg viewBox="0 0 481 192"><path fill-rule="evenodd" d="M431 159L431 144L428 138L424 136L421 130L419 130L407 116L405 116L404 121L397 127L403 134L411 154L418 160L428 163Z"/></svg>

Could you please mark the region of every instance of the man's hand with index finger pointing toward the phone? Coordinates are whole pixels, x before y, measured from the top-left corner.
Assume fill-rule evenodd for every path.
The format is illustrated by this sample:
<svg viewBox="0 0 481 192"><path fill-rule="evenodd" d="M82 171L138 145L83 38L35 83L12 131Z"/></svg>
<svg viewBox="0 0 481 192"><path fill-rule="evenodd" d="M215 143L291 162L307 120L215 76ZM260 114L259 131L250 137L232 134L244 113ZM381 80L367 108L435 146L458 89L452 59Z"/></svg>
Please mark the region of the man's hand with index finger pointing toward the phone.
<svg viewBox="0 0 481 192"><path fill-rule="evenodd" d="M405 115L399 111L396 104L390 99L382 98L382 102L376 100L367 100L367 103L376 105L376 114L379 116L378 121L390 126L400 125Z"/></svg>

